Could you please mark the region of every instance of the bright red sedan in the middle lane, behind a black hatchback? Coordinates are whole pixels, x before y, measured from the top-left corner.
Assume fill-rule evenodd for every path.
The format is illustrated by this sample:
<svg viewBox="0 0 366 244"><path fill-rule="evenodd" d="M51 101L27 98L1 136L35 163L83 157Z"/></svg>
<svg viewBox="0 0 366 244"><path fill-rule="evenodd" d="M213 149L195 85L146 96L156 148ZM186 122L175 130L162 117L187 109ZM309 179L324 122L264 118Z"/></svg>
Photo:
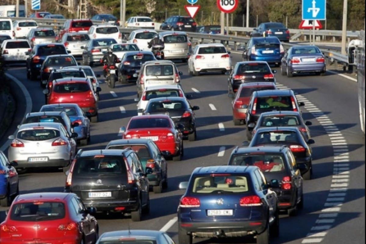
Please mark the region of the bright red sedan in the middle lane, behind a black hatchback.
<svg viewBox="0 0 366 244"><path fill-rule="evenodd" d="M133 116L127 128L121 127L123 139L145 138L151 139L158 146L164 156L172 157L173 161L180 161L183 157L183 125L174 125L168 115Z"/></svg>

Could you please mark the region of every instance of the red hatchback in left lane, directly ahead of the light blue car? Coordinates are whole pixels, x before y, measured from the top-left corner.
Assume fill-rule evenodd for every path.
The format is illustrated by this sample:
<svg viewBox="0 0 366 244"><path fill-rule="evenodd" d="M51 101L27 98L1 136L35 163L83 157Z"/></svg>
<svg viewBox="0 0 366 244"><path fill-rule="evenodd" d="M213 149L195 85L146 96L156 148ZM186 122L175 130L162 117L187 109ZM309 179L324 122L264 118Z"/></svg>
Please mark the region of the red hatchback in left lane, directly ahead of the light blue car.
<svg viewBox="0 0 366 244"><path fill-rule="evenodd" d="M101 88L97 87L94 92L93 85L86 78L68 77L53 80L49 89L43 90L47 96L47 104L74 103L90 117L93 123L98 122L98 98L96 93Z"/></svg>

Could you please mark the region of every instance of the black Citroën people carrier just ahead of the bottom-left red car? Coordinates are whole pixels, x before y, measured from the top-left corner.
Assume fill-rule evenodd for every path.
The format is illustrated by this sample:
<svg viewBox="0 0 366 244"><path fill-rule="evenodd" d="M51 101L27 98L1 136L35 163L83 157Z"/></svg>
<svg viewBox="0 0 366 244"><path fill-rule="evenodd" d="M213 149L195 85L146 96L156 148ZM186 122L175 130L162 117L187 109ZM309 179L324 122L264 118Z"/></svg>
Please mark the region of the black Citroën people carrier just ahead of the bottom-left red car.
<svg viewBox="0 0 366 244"><path fill-rule="evenodd" d="M131 149L81 149L66 172L65 192L74 192L97 211L127 213L140 221L142 213L150 211L146 176L152 172Z"/></svg>

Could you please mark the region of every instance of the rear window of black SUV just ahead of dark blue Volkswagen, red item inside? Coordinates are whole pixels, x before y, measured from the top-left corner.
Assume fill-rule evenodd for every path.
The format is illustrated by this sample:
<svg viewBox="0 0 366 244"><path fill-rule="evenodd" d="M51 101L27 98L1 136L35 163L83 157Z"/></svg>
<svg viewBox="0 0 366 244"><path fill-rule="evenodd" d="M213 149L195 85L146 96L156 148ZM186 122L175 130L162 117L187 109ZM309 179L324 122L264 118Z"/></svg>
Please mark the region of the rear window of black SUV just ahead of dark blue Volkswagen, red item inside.
<svg viewBox="0 0 366 244"><path fill-rule="evenodd" d="M273 153L234 154L229 165L257 166L262 172L280 172L285 169L283 155Z"/></svg>

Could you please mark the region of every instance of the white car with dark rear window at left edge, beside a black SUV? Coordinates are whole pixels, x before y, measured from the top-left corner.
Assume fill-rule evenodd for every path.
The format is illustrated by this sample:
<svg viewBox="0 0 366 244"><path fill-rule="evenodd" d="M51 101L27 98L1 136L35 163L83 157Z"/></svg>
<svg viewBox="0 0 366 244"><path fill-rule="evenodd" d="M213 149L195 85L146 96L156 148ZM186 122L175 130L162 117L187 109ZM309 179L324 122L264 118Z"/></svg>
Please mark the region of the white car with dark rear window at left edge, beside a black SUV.
<svg viewBox="0 0 366 244"><path fill-rule="evenodd" d="M1 43L1 48L5 62L26 61L29 57L26 52L31 49L30 43L26 39L10 39Z"/></svg>

